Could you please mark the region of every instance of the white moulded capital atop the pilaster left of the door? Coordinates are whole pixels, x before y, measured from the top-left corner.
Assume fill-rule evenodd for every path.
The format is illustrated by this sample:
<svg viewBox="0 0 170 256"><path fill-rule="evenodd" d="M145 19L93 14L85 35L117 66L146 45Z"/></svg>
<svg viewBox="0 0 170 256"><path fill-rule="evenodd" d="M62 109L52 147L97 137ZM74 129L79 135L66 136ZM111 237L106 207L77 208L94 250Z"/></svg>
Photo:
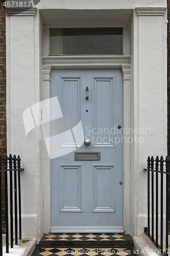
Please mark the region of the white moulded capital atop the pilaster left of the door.
<svg viewBox="0 0 170 256"><path fill-rule="evenodd" d="M6 8L9 16L34 16L37 12L37 8Z"/></svg>

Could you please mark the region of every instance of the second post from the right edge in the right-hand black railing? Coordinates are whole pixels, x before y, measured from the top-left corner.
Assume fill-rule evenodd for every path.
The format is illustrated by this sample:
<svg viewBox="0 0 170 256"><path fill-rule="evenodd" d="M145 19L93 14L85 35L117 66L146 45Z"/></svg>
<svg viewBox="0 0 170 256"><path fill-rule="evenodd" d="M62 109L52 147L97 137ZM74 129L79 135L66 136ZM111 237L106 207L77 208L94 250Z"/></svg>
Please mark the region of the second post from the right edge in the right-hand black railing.
<svg viewBox="0 0 170 256"><path fill-rule="evenodd" d="M163 157L160 158L160 171L163 172ZM161 219L160 219L160 248L163 250L163 174L161 174L161 195L160 195L160 211L161 211Z"/></svg>

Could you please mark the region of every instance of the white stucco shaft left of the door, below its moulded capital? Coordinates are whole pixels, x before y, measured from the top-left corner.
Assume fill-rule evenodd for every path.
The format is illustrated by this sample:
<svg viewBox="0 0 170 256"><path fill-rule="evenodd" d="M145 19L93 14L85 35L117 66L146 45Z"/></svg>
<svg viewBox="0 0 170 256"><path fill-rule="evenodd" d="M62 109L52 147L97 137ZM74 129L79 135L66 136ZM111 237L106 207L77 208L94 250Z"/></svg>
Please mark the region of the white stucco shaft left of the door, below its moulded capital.
<svg viewBox="0 0 170 256"><path fill-rule="evenodd" d="M38 15L7 17L6 24L7 150L20 155L25 168L21 173L22 237L37 237L42 235L43 220L42 150L38 131L35 140L26 137L23 112L42 100L42 31Z"/></svg>

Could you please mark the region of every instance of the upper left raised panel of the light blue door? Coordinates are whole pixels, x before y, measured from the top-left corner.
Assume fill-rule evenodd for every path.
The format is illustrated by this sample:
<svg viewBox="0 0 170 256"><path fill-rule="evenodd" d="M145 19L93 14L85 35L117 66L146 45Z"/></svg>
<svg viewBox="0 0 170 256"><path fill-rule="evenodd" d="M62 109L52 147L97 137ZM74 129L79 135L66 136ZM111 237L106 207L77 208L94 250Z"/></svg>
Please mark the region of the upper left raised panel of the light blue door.
<svg viewBox="0 0 170 256"><path fill-rule="evenodd" d="M64 117L61 122L62 132L60 136L61 147L75 147L81 145L82 129L77 125L81 120L81 94L82 94L82 77L59 78L59 102ZM74 131L73 131L74 130Z"/></svg>

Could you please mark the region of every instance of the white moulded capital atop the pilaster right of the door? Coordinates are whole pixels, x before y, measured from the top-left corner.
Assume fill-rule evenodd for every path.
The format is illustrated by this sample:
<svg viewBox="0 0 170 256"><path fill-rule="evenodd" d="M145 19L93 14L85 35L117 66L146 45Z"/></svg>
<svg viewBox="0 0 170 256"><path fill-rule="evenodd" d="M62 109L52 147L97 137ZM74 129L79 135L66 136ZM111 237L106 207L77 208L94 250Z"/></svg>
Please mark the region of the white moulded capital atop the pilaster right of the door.
<svg viewBox="0 0 170 256"><path fill-rule="evenodd" d="M166 7L136 7L135 12L138 16L163 16Z"/></svg>

